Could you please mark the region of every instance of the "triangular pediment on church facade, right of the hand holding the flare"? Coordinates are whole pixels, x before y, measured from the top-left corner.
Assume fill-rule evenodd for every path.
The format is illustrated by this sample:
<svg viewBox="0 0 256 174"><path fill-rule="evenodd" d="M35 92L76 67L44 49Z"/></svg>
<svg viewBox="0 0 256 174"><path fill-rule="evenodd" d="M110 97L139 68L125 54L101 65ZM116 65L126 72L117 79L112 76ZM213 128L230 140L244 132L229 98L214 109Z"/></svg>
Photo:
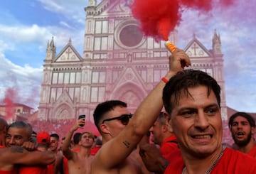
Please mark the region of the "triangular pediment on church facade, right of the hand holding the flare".
<svg viewBox="0 0 256 174"><path fill-rule="evenodd" d="M188 43L184 49L190 58L211 57L206 47L195 37Z"/></svg>

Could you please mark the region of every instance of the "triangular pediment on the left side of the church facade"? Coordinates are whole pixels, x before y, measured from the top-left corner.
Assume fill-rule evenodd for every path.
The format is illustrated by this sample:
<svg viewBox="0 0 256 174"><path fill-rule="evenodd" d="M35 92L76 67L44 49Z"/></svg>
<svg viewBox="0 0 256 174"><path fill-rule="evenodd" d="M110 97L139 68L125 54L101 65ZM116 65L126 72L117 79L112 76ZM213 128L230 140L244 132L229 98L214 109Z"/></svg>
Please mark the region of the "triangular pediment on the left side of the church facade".
<svg viewBox="0 0 256 174"><path fill-rule="evenodd" d="M81 62L82 58L69 42L55 58L54 62Z"/></svg>

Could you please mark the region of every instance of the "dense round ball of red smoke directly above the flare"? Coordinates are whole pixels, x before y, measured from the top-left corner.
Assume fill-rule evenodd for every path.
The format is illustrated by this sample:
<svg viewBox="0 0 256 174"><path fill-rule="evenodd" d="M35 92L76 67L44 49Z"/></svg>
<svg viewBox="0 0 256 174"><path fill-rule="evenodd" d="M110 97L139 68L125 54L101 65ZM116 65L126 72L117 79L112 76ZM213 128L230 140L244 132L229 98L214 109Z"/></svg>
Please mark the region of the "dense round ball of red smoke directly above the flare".
<svg viewBox="0 0 256 174"><path fill-rule="evenodd" d="M177 0L134 0L132 13L146 36L168 40L170 31L181 21Z"/></svg>

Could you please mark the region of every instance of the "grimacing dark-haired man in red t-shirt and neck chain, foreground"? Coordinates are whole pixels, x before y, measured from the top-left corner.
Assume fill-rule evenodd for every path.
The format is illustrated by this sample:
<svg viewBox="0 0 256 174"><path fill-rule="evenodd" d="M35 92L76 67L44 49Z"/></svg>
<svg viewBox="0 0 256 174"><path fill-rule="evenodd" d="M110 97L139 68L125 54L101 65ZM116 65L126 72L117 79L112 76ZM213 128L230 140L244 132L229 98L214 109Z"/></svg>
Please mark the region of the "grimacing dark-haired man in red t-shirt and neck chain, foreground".
<svg viewBox="0 0 256 174"><path fill-rule="evenodd" d="M164 87L170 131L183 160L171 161L165 173L256 173L256 159L222 145L220 86L200 70L185 70Z"/></svg>

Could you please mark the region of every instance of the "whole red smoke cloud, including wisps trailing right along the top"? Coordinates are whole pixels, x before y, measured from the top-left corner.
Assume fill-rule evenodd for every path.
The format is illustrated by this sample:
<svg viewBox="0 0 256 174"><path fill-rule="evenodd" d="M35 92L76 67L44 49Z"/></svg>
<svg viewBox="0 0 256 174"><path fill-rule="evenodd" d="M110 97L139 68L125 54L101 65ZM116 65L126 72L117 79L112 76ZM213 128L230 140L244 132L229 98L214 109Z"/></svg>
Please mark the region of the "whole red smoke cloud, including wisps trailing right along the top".
<svg viewBox="0 0 256 174"><path fill-rule="evenodd" d="M219 0L219 6L228 6L232 0ZM134 0L132 13L141 23L145 36L155 40L168 40L169 33L181 23L184 9L208 12L213 8L213 0Z"/></svg>

